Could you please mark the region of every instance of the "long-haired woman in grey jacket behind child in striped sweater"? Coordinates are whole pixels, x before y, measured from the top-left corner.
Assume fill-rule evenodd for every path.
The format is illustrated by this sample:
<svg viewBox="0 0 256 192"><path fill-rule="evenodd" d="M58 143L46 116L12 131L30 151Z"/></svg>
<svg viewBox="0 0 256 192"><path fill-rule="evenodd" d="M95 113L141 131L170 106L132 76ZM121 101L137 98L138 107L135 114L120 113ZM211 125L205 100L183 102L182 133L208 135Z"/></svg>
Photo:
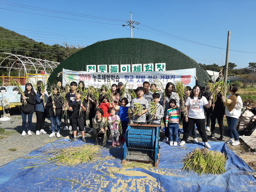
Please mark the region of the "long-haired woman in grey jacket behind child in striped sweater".
<svg viewBox="0 0 256 192"><path fill-rule="evenodd" d="M165 95L166 97L164 98L162 95L162 98L160 100L160 104L162 104L164 106L165 104L165 108L164 108L164 114L166 114L166 111L170 108L169 106L169 101L171 99L174 99L176 101L176 108L180 107L180 101L179 101L179 97L178 94L176 94L176 92L173 92L174 90L174 84L171 82L168 82L166 84L166 88L165 88ZM167 142L168 141L168 137L169 137L169 129L168 127L164 128L164 133L165 133L165 137L163 139L163 142Z"/></svg>

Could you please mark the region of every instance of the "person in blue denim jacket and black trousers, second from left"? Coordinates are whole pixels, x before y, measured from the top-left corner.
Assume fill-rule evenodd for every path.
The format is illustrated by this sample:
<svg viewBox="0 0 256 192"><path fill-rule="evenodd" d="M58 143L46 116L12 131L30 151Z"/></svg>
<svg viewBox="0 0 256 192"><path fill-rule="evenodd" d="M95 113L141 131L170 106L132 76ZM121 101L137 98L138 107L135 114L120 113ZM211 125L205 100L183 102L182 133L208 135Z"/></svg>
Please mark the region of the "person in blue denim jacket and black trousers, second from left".
<svg viewBox="0 0 256 192"><path fill-rule="evenodd" d="M45 102L43 102L43 97ZM43 93L41 86L37 87L37 94L35 95L35 115L36 115L36 132L35 135L46 134L46 131L43 129L45 125L45 118L47 114L46 110L47 95Z"/></svg>

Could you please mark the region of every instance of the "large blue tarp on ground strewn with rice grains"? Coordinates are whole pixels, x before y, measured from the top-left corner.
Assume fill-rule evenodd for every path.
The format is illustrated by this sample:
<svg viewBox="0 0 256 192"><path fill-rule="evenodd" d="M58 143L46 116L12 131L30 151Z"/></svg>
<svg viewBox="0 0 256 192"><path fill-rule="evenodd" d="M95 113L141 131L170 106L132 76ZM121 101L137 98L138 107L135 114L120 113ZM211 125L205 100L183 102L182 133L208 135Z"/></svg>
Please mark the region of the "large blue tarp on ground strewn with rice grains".
<svg viewBox="0 0 256 192"><path fill-rule="evenodd" d="M81 140L69 142L67 139L61 139L59 141L32 151L27 156L44 156L44 151L54 147L85 145ZM198 176L197 173L181 170L183 167L182 158L196 147L202 148L202 143L186 144L185 147L181 148L160 142L159 165L157 169L154 168L153 170L134 168L118 171L122 167L120 164L123 158L122 146L119 148L103 147L101 157L112 157L108 160L100 159L94 163L83 163L75 167L56 166L51 163L41 165L38 168L20 169L46 161L41 158L19 158L0 167L0 190L12 192L256 191L256 187L250 185L250 181L255 181L254 177L245 174L245 172L252 172L253 170L224 142L209 143L212 146L210 150L225 152L228 156L224 174ZM78 183L71 182L74 180Z"/></svg>

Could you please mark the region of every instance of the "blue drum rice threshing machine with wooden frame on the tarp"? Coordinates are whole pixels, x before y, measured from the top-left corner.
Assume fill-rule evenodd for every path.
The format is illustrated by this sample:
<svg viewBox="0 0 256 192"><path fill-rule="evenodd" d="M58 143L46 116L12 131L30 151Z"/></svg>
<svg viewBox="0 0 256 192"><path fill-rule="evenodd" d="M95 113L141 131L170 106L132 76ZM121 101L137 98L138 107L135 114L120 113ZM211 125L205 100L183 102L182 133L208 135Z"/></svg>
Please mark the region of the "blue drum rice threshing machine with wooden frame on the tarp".
<svg viewBox="0 0 256 192"><path fill-rule="evenodd" d="M158 125L130 124L125 133L123 161L143 163L159 162L159 128Z"/></svg>

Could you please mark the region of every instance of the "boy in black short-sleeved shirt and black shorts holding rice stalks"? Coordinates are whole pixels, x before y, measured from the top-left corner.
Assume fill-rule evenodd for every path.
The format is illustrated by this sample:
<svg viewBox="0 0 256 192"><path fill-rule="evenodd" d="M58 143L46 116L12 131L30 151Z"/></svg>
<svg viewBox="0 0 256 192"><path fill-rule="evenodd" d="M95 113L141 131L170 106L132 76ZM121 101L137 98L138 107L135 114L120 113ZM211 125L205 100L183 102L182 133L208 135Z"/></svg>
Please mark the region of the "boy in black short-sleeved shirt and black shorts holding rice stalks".
<svg viewBox="0 0 256 192"><path fill-rule="evenodd" d="M76 138L76 132L77 127L81 130L82 133L82 140L83 142L86 142L85 139L85 128L83 126L83 111L86 111L86 103L85 101L81 102L81 94L79 91L76 91L75 93L76 100L71 103L71 106L69 107L69 111L73 110L72 114L72 128L73 128L73 135L74 137L70 139L71 141L77 140ZM80 112L80 107L82 107L82 111Z"/></svg>

